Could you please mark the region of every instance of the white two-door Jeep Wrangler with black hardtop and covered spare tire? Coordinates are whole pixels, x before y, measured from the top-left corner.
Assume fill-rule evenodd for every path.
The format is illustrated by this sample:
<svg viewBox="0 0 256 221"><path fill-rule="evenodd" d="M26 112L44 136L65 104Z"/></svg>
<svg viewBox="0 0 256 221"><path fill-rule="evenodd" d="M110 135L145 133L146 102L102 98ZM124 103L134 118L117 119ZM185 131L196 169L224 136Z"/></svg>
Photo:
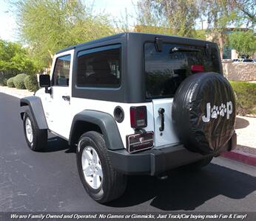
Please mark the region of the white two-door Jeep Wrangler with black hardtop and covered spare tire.
<svg viewBox="0 0 256 221"><path fill-rule="evenodd" d="M209 164L236 146L235 97L215 43L122 33L58 52L35 96L21 99L31 150L47 132L77 145L90 196L124 193L127 175Z"/></svg>

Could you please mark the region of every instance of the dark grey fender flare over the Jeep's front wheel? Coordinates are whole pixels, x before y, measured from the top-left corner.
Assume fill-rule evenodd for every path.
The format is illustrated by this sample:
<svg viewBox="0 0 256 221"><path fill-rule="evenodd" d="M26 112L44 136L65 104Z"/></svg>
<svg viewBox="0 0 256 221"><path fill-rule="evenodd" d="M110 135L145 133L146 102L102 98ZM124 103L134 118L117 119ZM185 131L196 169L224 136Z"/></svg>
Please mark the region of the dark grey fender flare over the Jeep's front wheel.
<svg viewBox="0 0 256 221"><path fill-rule="evenodd" d="M21 98L21 119L24 116L24 112L30 112L35 119L36 126L40 130L48 129L47 121L44 116L44 108L41 103L41 98L36 96Z"/></svg>

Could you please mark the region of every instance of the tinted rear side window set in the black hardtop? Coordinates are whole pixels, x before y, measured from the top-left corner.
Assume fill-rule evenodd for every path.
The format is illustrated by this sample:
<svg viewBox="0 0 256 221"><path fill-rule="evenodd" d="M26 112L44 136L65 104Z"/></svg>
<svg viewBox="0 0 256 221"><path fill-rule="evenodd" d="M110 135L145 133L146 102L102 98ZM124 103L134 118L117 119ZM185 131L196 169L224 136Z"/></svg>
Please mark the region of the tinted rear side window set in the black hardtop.
<svg viewBox="0 0 256 221"><path fill-rule="evenodd" d="M78 87L117 88L121 82L121 47L107 46L106 50L94 49L78 52Z"/></svg>

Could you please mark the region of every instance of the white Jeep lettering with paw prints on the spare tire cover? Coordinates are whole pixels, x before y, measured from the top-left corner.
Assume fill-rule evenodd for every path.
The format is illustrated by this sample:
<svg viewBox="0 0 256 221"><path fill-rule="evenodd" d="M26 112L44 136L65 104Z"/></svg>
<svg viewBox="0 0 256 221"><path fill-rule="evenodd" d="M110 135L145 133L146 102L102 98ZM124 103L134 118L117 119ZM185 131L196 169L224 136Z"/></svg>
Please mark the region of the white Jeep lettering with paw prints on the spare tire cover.
<svg viewBox="0 0 256 221"><path fill-rule="evenodd" d="M233 112L233 104L231 101L226 102L226 105L221 103L220 106L213 105L211 107L211 103L208 102L206 104L206 115L202 116L203 122L209 122L211 118L217 119L218 116L225 116L226 119L229 119L229 115Z"/></svg>

